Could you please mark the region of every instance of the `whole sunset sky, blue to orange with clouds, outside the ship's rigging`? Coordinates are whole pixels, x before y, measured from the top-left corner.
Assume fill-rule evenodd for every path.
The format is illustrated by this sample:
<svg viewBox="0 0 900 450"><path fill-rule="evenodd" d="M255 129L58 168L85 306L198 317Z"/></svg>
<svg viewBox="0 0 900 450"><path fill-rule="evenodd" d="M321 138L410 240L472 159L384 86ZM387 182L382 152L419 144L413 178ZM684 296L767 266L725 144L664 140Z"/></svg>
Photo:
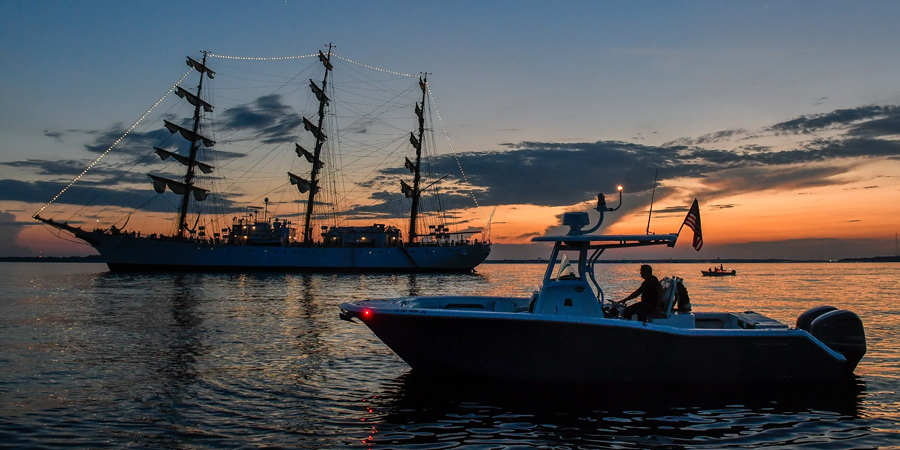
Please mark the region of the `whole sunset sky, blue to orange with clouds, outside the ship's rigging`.
<svg viewBox="0 0 900 450"><path fill-rule="evenodd" d="M900 231L900 3L13 1L0 16L0 256L93 250L30 217L184 73L183 58L328 43L429 75L453 154L493 212L491 258L624 186L605 232L704 248L626 257L893 255ZM216 60L214 60L216 61ZM219 63L220 61L216 61ZM52 182L52 183L51 183ZM615 203L615 202L613 202ZM593 216L592 216L593 217ZM682 242L685 241L685 242Z"/></svg>

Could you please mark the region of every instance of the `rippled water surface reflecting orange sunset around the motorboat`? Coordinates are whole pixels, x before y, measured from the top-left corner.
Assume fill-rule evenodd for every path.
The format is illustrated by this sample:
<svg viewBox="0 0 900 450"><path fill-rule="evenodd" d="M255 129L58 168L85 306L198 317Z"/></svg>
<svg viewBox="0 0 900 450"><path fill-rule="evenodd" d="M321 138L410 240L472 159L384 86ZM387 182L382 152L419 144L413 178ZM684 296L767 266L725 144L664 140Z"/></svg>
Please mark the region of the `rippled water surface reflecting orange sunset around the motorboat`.
<svg viewBox="0 0 900 450"><path fill-rule="evenodd" d="M637 265L598 266L608 298ZM900 448L898 264L655 266L695 310L793 324L858 313L869 350L823 391L677 385L628 392L457 382L411 373L340 302L528 296L543 267L478 275L113 275L93 264L0 264L2 448Z"/></svg>

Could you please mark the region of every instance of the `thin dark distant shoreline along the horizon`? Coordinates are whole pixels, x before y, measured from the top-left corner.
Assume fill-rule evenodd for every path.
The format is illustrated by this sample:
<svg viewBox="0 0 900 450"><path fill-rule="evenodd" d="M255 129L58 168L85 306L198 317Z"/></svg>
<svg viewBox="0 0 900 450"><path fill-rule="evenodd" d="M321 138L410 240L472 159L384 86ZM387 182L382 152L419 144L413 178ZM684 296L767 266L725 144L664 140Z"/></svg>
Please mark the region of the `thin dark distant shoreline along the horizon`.
<svg viewBox="0 0 900 450"><path fill-rule="evenodd" d="M100 255L92 256L0 256L0 262L64 262L106 263ZM598 264L772 264L772 263L829 263L829 262L900 262L900 256L872 256L843 259L607 259ZM482 264L547 264L546 259L489 259Z"/></svg>

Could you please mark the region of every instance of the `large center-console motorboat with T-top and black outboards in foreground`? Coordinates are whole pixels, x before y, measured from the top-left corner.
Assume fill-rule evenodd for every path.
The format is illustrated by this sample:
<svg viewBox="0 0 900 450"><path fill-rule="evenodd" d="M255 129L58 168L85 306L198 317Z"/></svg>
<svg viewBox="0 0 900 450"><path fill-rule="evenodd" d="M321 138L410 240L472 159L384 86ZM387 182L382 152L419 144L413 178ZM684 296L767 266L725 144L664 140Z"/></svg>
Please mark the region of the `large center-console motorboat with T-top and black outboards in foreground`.
<svg viewBox="0 0 900 450"><path fill-rule="evenodd" d="M678 234L591 234L587 212L566 213L543 282L529 297L432 296L340 305L415 372L557 383L836 382L866 351L859 316L812 308L789 326L762 314L693 311L683 279L668 276L662 308L644 321L621 317L604 296L595 262L606 250L666 245ZM697 223L699 223L698 210ZM690 214L689 214L690 215ZM698 230L694 230L695 233ZM696 240L695 235L695 240Z"/></svg>

